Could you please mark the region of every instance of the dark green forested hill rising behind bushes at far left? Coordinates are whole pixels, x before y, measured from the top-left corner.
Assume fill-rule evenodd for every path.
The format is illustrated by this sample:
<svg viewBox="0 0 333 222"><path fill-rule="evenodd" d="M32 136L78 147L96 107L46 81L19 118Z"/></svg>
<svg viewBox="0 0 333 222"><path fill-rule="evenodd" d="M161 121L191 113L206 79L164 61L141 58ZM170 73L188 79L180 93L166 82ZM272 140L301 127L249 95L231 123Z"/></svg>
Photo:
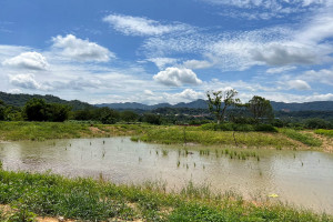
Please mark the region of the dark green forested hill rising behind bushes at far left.
<svg viewBox="0 0 333 222"><path fill-rule="evenodd" d="M58 97L47 94L11 94L6 92L0 92L0 100L2 100L6 104L14 105L14 107L24 107L24 104L32 98L44 99L48 103L61 103L68 104L73 108L73 110L83 110L83 109L91 109L93 105L81 102L79 100L62 100Z"/></svg>

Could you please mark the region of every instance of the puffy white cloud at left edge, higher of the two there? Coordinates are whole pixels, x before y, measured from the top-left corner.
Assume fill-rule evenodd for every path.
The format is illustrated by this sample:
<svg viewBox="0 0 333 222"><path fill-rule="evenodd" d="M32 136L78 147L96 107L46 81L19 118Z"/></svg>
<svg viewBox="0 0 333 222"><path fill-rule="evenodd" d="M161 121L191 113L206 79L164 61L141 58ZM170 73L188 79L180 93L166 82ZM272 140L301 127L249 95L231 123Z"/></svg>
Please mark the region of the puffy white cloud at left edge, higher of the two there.
<svg viewBox="0 0 333 222"><path fill-rule="evenodd" d="M46 70L49 63L41 53L23 52L17 57L6 59L2 65L29 70Z"/></svg>

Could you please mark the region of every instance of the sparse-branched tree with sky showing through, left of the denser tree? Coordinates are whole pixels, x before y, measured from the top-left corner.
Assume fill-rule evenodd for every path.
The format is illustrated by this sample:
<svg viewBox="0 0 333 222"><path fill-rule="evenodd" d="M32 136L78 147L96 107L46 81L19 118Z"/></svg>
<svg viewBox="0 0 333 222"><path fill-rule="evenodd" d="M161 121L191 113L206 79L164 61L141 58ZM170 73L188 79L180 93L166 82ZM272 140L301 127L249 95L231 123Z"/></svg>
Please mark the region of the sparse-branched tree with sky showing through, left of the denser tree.
<svg viewBox="0 0 333 222"><path fill-rule="evenodd" d="M234 89L206 92L209 110L216 117L218 124L224 121L224 113L228 107L240 103L240 99L235 98L238 93Z"/></svg>

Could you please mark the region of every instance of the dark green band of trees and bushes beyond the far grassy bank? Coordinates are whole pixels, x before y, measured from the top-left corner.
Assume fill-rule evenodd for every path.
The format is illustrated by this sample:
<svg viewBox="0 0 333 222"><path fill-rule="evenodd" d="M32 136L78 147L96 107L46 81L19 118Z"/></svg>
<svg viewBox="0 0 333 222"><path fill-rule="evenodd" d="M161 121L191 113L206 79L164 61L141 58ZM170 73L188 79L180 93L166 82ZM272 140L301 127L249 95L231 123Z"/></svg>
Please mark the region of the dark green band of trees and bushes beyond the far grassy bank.
<svg viewBox="0 0 333 222"><path fill-rule="evenodd" d="M117 111L110 108L84 107L75 110L68 104L47 102L40 98L32 98L24 107L18 108L6 104L0 100L0 120L4 121L52 121L63 122L97 121L103 124L117 122L148 122L151 124L204 124L215 121L216 123L235 124L271 124L274 127L333 129L333 119L324 120L315 118L313 111L302 112L301 118L289 117L287 113L274 112L269 100L254 95L249 102L242 103L236 98L238 92L210 91L206 92L209 109L190 108L158 108L153 111ZM291 113L294 114L295 113ZM323 112L322 114L327 114ZM302 117L311 117L302 119Z"/></svg>

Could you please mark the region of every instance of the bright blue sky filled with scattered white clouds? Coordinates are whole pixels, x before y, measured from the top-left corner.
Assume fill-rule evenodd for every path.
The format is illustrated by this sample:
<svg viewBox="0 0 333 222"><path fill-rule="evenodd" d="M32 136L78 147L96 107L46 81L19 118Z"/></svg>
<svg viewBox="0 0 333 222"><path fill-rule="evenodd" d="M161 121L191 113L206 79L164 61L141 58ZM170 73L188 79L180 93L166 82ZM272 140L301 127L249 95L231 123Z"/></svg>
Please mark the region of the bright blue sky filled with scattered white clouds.
<svg viewBox="0 0 333 222"><path fill-rule="evenodd" d="M333 101L333 0L0 0L0 91Z"/></svg>

